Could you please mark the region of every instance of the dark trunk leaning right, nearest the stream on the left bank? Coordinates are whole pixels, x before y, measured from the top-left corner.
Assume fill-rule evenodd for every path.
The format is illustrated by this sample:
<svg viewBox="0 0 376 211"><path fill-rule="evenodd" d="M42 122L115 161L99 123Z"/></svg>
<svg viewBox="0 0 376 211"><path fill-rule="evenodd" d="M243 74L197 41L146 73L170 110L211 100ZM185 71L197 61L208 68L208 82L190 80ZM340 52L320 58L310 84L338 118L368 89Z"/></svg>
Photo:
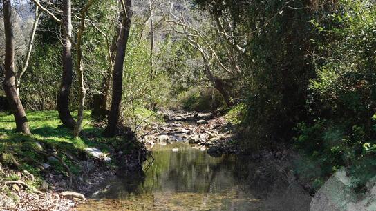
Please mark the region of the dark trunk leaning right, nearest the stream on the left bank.
<svg viewBox="0 0 376 211"><path fill-rule="evenodd" d="M113 137L116 134L116 126L118 125L120 115L120 103L122 101L123 66L129 30L131 29L132 1L126 0L125 4L126 11L123 11L124 18L122 20L122 28L120 30L120 37L118 39L115 65L113 67L112 100L111 110L109 113L109 122L107 123L106 130L103 132L103 135L106 137Z"/></svg>

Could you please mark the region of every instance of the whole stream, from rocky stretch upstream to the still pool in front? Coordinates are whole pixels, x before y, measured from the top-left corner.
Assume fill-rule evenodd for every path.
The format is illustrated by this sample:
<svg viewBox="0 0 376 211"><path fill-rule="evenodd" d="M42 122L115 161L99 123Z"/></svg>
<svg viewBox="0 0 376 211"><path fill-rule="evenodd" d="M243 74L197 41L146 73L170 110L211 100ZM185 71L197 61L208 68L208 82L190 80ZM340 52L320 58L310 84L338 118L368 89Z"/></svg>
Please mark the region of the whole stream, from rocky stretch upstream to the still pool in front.
<svg viewBox="0 0 376 211"><path fill-rule="evenodd" d="M144 162L144 179L109 178L77 210L309 210L311 198L272 157L207 154L208 145L231 139L220 130L226 123L187 122L189 115L173 113L150 128L154 160Z"/></svg>

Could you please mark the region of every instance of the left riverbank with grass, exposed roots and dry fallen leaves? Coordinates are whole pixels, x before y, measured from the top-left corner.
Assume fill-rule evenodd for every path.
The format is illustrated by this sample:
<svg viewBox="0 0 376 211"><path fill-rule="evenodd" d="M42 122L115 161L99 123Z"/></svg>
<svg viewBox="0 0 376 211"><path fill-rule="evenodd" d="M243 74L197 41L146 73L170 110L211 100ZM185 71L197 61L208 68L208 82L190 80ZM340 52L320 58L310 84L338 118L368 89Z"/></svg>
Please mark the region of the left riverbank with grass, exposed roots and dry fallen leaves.
<svg viewBox="0 0 376 211"><path fill-rule="evenodd" d="M73 210L120 166L140 165L135 151L142 145L129 143L126 132L103 138L90 112L78 138L60 126L55 111L28 112L28 119L26 136L13 131L11 115L0 114L1 210Z"/></svg>

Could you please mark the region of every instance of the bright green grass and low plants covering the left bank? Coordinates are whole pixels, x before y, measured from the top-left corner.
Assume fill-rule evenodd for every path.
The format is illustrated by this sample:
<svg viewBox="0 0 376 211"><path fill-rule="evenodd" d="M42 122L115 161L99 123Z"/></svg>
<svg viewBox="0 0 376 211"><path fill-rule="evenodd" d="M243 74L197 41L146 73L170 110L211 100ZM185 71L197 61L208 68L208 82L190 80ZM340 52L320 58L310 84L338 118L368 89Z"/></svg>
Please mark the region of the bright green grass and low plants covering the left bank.
<svg viewBox="0 0 376 211"><path fill-rule="evenodd" d="M48 159L41 150L55 150L57 156L71 168L71 172L77 175L82 170L79 161L87 160L85 148L98 148L106 153L114 150L123 141L122 137L111 139L102 137L103 129L93 126L90 112L84 113L82 134L77 138L73 137L71 130L62 127L56 111L27 112L27 117L31 135L16 132L14 117L0 113L0 163L15 172L27 170L33 174L36 180L29 184L32 187L39 187L43 182L42 176L51 170L68 176L62 163ZM129 149L131 149L130 145ZM44 163L50 165L48 170L41 167ZM115 164L109 163L109 165ZM20 179L17 175L8 175L9 178L1 177L3 176L0 175L0 181Z"/></svg>

